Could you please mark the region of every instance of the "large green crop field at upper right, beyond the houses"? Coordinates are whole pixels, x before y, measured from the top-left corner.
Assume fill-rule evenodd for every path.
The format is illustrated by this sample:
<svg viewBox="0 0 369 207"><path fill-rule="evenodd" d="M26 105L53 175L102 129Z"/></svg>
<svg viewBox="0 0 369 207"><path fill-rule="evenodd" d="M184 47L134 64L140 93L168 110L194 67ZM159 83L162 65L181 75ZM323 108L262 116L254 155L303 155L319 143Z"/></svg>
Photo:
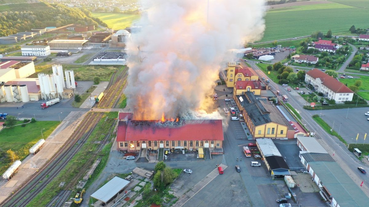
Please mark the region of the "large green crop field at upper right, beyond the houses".
<svg viewBox="0 0 369 207"><path fill-rule="evenodd" d="M354 24L356 28L368 27L368 9L340 4L350 0L334 0L339 3L311 4L282 7L268 10L265 17L266 29L260 42L276 39L311 35L314 31L332 33L348 31ZM354 4L365 4L365 0L352 0ZM368 6L368 1L366 1Z"/></svg>

